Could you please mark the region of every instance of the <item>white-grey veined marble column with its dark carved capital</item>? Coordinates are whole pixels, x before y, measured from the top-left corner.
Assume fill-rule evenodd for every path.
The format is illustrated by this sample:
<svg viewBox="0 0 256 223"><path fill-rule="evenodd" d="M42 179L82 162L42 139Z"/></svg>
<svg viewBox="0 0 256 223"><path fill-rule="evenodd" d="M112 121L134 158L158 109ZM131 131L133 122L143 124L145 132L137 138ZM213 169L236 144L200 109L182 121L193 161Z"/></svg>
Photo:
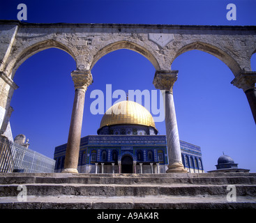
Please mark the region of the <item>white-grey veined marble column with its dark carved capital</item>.
<svg viewBox="0 0 256 223"><path fill-rule="evenodd" d="M163 90L165 105L165 128L167 137L167 151L169 165L167 173L187 173L181 160L181 146L179 144L179 132L176 121L174 98L172 88L178 77L178 70L156 71L153 84L156 89Z"/></svg>

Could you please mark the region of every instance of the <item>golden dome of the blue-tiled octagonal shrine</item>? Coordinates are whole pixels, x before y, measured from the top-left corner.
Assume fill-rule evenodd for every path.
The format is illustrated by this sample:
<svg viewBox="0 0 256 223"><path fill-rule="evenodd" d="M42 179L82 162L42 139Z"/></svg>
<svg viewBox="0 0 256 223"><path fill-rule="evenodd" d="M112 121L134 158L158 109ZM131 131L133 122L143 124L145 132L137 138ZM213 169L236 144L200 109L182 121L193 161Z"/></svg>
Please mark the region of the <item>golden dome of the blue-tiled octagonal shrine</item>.
<svg viewBox="0 0 256 223"><path fill-rule="evenodd" d="M156 129L155 122L149 111L137 102L130 100L123 100L107 109L100 122L100 128L106 125L118 124L146 125Z"/></svg>

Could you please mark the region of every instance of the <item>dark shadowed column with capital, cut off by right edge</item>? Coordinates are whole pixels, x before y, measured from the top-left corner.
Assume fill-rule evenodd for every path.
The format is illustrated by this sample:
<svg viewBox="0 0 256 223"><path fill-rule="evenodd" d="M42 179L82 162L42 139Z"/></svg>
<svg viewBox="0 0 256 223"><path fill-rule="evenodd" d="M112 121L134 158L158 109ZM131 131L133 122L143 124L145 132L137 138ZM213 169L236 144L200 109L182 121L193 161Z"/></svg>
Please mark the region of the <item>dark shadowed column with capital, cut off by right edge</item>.
<svg viewBox="0 0 256 223"><path fill-rule="evenodd" d="M246 94L246 98L250 105L250 110L253 113L253 118L256 124L256 72L255 71L246 71L241 72L237 77L235 77L231 84L243 89L243 92Z"/></svg>

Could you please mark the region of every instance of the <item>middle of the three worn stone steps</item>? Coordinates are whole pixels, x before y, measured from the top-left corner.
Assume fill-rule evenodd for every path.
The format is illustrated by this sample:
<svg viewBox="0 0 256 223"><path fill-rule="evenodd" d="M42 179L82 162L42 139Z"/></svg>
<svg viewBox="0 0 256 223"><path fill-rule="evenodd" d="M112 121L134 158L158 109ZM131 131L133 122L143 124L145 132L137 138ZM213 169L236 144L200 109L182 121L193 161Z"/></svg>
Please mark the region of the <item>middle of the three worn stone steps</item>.
<svg viewBox="0 0 256 223"><path fill-rule="evenodd" d="M165 185L113 185L113 184L24 184L27 194L33 196L135 196L146 195L227 195L227 185L188 185L188 184L165 184ZM19 185L0 185L0 197L13 197L20 193ZM235 185L237 196L256 197L256 185Z"/></svg>

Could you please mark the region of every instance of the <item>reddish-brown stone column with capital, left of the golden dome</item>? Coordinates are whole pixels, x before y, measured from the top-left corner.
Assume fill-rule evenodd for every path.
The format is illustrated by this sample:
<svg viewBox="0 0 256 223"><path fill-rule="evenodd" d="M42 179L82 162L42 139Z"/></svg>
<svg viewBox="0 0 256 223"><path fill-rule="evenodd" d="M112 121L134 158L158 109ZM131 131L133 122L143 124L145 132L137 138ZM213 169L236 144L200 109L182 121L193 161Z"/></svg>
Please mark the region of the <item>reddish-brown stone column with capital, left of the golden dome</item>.
<svg viewBox="0 0 256 223"><path fill-rule="evenodd" d="M75 84L75 99L73 104L66 157L62 173L78 173L77 164L80 151L82 118L84 113L84 97L87 87L92 83L90 70L74 70L71 77Z"/></svg>

